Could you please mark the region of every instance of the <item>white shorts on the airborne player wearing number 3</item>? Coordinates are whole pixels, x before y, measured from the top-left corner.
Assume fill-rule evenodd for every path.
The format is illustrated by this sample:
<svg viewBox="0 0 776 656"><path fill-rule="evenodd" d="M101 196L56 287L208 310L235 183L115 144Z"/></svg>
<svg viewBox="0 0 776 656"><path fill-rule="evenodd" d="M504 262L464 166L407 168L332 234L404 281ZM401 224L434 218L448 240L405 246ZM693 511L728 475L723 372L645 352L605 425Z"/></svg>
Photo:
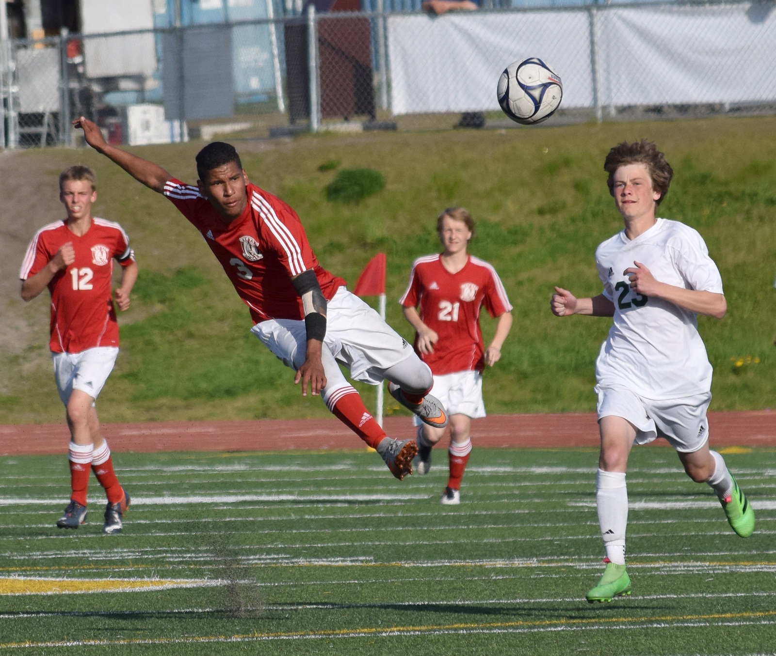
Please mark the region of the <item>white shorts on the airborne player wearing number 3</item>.
<svg viewBox="0 0 776 656"><path fill-rule="evenodd" d="M286 364L298 369L307 352L304 321L268 319L251 328L265 346ZM356 381L379 385L381 370L410 357L410 344L358 296L341 287L327 304L323 364L327 388L347 385L337 362L344 364ZM341 379L341 380L340 380Z"/></svg>

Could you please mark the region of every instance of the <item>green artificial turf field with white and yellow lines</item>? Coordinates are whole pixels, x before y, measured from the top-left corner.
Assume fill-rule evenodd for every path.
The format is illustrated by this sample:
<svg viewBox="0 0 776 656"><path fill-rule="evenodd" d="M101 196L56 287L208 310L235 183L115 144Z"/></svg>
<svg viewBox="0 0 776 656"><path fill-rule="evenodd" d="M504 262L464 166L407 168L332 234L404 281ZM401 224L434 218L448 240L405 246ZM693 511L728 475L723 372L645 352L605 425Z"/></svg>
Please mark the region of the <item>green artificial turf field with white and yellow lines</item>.
<svg viewBox="0 0 776 656"><path fill-rule="evenodd" d="M393 479L365 451L114 454L123 535L54 527L61 456L0 458L0 649L33 654L760 654L776 644L776 450L722 450L729 529L672 450L629 468L633 595L589 605L597 454L476 449Z"/></svg>

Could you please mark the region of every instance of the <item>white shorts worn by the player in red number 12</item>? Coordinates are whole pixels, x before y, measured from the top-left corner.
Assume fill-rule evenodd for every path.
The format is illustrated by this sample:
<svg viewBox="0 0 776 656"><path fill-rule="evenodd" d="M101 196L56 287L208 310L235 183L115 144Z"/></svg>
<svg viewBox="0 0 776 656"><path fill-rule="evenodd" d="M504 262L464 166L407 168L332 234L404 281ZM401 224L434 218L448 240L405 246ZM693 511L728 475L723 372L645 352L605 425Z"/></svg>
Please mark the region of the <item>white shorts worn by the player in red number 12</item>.
<svg viewBox="0 0 776 656"><path fill-rule="evenodd" d="M54 379L64 405L68 405L74 389L80 389L96 400L113 371L118 354L117 347L88 348L81 353L52 353Z"/></svg>

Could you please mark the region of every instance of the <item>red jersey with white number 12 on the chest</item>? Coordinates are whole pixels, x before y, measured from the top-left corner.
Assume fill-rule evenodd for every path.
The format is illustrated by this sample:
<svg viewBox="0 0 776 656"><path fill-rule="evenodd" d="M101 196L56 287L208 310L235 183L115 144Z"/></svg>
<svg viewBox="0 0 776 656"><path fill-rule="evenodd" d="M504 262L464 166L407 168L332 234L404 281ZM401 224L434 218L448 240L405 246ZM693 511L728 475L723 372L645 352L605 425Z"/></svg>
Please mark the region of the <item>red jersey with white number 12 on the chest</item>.
<svg viewBox="0 0 776 656"><path fill-rule="evenodd" d="M129 237L118 223L92 219L78 237L62 219L37 231L29 243L19 278L26 280L45 267L59 248L71 242L75 261L57 271L51 292L51 339L54 353L80 353L94 347L117 347L119 324L111 297L113 258L126 267L135 261Z"/></svg>

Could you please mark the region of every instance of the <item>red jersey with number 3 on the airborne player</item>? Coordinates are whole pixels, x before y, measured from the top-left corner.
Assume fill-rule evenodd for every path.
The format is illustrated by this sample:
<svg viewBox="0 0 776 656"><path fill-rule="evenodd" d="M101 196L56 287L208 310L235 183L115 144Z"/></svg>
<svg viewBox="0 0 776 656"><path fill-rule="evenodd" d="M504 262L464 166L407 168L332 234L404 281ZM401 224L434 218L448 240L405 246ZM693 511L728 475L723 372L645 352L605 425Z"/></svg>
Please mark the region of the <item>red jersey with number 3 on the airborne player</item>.
<svg viewBox="0 0 776 656"><path fill-rule="evenodd" d="M192 185L169 180L165 196L205 237L237 295L251 309L253 323L304 319L291 278L307 269L314 269L327 301L346 285L318 264L296 212L256 185L248 184L248 205L228 225Z"/></svg>

